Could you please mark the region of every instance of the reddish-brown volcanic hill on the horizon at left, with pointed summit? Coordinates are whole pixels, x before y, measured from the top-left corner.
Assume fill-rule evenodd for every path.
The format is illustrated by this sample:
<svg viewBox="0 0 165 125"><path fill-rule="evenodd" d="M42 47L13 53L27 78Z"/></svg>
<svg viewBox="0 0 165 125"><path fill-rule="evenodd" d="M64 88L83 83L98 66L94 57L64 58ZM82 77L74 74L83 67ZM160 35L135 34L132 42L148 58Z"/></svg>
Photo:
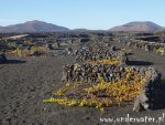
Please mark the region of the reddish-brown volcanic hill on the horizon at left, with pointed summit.
<svg viewBox="0 0 165 125"><path fill-rule="evenodd" d="M59 27L43 21L28 21L25 23L0 27L0 32L54 32L54 31L68 31L69 29Z"/></svg>

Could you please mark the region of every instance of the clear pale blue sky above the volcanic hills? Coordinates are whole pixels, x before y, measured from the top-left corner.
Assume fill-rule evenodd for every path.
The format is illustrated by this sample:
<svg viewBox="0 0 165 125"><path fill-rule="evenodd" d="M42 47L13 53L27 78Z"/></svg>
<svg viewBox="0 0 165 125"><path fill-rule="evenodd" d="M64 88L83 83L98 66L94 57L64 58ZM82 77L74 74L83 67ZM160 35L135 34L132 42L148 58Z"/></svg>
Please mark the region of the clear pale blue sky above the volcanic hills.
<svg viewBox="0 0 165 125"><path fill-rule="evenodd" d="M0 25L41 20L69 29L109 29L131 21L165 27L165 0L1 0Z"/></svg>

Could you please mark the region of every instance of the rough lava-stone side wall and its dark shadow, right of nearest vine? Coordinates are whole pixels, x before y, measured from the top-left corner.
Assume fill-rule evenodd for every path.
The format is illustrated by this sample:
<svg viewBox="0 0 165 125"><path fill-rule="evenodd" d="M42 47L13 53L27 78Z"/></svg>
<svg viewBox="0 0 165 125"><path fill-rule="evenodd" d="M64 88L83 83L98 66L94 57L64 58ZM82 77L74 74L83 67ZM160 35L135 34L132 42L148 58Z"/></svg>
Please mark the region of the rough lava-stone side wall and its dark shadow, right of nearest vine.
<svg viewBox="0 0 165 125"><path fill-rule="evenodd" d="M135 98L133 111L140 112L143 110L155 110L163 107L164 104L164 88L161 82L161 74L153 67L146 71L146 79L141 94Z"/></svg>

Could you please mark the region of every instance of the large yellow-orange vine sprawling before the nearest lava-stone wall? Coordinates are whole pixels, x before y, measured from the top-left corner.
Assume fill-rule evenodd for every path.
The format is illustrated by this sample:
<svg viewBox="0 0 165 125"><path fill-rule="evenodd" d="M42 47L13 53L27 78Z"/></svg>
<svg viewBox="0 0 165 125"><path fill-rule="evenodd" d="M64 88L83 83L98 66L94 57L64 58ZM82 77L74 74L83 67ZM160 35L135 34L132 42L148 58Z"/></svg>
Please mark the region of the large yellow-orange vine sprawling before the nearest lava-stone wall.
<svg viewBox="0 0 165 125"><path fill-rule="evenodd" d="M118 82L107 83L99 77L98 84L67 83L54 94L54 97L44 100L44 102L66 106L94 106L100 111L111 105L123 105L132 102L141 93L145 82L145 76L135 73L132 81L129 81L132 72L131 69L128 69L124 80Z"/></svg>

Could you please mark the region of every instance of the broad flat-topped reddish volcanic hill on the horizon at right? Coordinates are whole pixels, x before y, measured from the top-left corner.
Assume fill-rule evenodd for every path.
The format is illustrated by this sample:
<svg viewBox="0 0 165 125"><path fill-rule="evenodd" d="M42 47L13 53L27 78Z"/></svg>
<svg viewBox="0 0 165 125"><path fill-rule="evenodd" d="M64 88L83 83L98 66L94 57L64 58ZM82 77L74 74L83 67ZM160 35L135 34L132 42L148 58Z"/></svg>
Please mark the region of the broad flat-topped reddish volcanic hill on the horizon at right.
<svg viewBox="0 0 165 125"><path fill-rule="evenodd" d="M114 27L110 29L110 31L118 32L118 31L123 31L123 32L154 32L162 29L158 24L155 24L150 21L145 22L140 22L140 21L134 21L130 22L123 25Z"/></svg>

